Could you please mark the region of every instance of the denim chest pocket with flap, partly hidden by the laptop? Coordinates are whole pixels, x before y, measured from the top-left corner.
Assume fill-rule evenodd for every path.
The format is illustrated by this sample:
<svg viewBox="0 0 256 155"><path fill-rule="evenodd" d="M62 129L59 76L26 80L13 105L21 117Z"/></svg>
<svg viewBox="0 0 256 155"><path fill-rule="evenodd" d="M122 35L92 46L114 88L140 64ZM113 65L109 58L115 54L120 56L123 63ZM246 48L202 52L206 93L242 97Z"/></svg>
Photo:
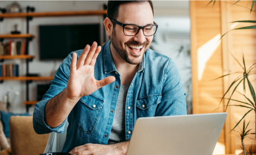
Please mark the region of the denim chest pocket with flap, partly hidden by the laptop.
<svg viewBox="0 0 256 155"><path fill-rule="evenodd" d="M145 97L139 97L136 101L138 117L153 117L156 113L156 107L161 102L162 95L154 94Z"/></svg>

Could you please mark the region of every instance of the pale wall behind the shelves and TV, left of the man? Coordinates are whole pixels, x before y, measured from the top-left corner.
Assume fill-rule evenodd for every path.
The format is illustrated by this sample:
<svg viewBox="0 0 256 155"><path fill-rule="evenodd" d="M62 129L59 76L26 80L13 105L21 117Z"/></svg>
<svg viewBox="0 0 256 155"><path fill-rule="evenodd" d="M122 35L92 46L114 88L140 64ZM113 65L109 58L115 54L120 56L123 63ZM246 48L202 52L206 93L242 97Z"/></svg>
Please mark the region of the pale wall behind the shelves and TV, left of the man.
<svg viewBox="0 0 256 155"><path fill-rule="evenodd" d="M5 8L14 0L1 0L0 7ZM102 10L103 4L107 4L107 0L18 0L22 8L26 6L34 6L36 12L54 12L54 11L74 11L74 10ZM52 71L56 70L61 64L61 61L40 61L39 60L39 25L55 25L55 24L86 24L100 23L103 24L102 16L78 16L78 17L51 17L51 18L33 18L30 21L30 34L36 37L29 44L29 54L36 58L29 64L30 73L39 73L41 76L53 76ZM0 22L0 34L10 34L14 28L14 24L18 24L18 30L26 33L25 18L6 18ZM103 25L102 25L103 26ZM100 30L102 31L103 28ZM102 33L101 33L102 34ZM85 36L86 37L86 36ZM7 41L7 40L5 40ZM103 39L102 39L103 41ZM79 50L79 49L78 49ZM70 51L72 52L72 51ZM5 60L4 63L20 64L20 76L26 74L25 60ZM36 85L39 83L49 83L49 81L34 81L29 86L29 99L36 100ZM9 91L12 98L14 93L18 91L20 95L14 103L11 103L11 112L22 113L26 112L23 101L26 100L26 84L25 81L4 81L0 84L0 100L3 100L4 94ZM34 108L30 108L30 113Z"/></svg>

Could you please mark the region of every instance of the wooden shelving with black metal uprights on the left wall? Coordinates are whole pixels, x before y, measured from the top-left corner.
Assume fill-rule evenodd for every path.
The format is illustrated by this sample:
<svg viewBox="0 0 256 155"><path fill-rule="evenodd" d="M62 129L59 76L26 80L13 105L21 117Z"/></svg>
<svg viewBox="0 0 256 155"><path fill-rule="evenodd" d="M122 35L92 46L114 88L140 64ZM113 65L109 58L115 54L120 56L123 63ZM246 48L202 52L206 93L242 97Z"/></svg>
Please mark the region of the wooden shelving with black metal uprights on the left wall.
<svg viewBox="0 0 256 155"><path fill-rule="evenodd" d="M0 56L0 62L3 62L7 59L25 59L26 60L26 76L22 77L0 77L0 83L5 80L21 80L26 81L26 101L23 103L26 105L26 110L28 111L28 108L31 105L36 104L38 101L30 101L29 100L29 83L32 81L48 81L52 80L53 77L33 77L29 76L28 67L29 62L32 61L35 57L29 55L28 51L28 44L29 41L31 41L35 36L32 34L29 34L29 22L33 18L38 17L63 17L63 16L103 16L103 20L107 16L107 10L106 10L106 4L103 6L104 10L89 10L89 11L64 11L64 12L26 12L26 13L5 13L0 14L0 22L4 20L4 18L26 18L26 34L0 34L0 41L3 41L4 38L24 38L26 39L26 52L25 55L17 55L17 56ZM105 29L103 28L103 37L104 42L106 42L106 33ZM103 43L101 43L103 44Z"/></svg>

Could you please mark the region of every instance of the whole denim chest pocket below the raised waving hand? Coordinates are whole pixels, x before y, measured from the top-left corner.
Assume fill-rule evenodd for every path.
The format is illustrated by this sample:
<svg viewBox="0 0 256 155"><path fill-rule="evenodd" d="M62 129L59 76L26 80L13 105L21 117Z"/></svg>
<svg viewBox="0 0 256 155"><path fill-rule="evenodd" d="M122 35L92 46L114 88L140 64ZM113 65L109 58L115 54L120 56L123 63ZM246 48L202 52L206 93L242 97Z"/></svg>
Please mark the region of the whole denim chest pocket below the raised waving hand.
<svg viewBox="0 0 256 155"><path fill-rule="evenodd" d="M97 123L104 101L92 95L82 97L77 103L76 122L78 129L91 133Z"/></svg>

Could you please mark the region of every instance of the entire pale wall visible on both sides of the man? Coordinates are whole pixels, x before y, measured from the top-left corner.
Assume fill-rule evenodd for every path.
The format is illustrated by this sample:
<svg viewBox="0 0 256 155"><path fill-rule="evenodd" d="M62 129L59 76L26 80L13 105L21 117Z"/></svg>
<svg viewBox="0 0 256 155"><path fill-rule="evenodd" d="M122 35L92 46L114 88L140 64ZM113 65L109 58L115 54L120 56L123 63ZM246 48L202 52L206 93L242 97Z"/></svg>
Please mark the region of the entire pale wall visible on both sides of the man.
<svg viewBox="0 0 256 155"><path fill-rule="evenodd" d="M102 5L108 0L18 0L22 8L26 6L34 6L36 12L54 12L54 11L71 11L71 10L101 10ZM0 7L5 8L14 0L0 0ZM186 81L187 71L183 71L184 64L189 64L184 61L184 57L177 57L175 46L180 43L189 42L190 23L188 14L188 0L153 0L155 6L155 22L159 25L155 39L158 44L152 43L156 52L169 56L176 62L180 69L182 81ZM52 76L52 70L56 70L61 64L61 61L39 61L39 40L38 26L49 24L85 24L85 23L100 23L103 26L103 18L101 16L87 17L51 17L51 18L33 18L30 21L30 34L36 37L30 42L29 53L36 56L30 62L30 73L39 73L41 76ZM6 18L0 22L0 34L9 34L13 30L14 24L18 24L18 30L26 33L26 20L23 18ZM102 28L100 29L102 31ZM166 31L165 31L166 30ZM168 32L168 33L166 33ZM103 39L102 39L103 41ZM20 64L20 76L26 74L25 60L6 60L4 63ZM48 81L34 81L30 84L30 100L36 100L36 85L38 83L48 83ZM0 84L0 100L3 100L4 94L9 91L12 97L16 91L20 95L12 104L11 112L25 112L23 101L26 100L26 85L25 81L4 81ZM186 92L186 90L185 90ZM187 92L186 92L187 93ZM30 108L30 113L34 111L34 107Z"/></svg>

